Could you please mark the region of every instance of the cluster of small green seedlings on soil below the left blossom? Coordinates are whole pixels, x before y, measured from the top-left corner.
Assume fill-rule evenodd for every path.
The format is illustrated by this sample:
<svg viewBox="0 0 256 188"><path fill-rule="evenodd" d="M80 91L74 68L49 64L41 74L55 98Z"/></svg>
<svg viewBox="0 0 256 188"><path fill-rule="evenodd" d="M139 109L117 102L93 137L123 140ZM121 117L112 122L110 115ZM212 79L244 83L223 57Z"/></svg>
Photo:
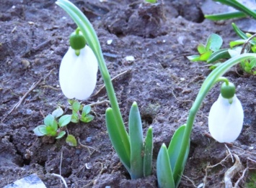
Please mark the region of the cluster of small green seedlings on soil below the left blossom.
<svg viewBox="0 0 256 188"><path fill-rule="evenodd" d="M58 107L52 114L46 116L43 120L43 125L34 128L34 133L36 136L53 136L56 139L63 138L65 136L66 126L69 123L78 123L82 121L84 123L89 123L94 119L94 116L90 115L91 106L84 105L84 107L76 100L69 100L72 109L72 115L63 115L63 110ZM81 111L81 115L80 115ZM76 146L76 138L69 134L66 138L66 143L69 146Z"/></svg>

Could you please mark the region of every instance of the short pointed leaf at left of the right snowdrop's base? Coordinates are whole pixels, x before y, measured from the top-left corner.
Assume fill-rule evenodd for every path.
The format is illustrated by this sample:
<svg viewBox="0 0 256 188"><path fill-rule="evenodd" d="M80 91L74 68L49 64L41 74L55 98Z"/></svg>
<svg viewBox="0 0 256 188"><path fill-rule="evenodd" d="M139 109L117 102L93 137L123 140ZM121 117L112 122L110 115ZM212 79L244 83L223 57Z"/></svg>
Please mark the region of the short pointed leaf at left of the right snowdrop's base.
<svg viewBox="0 0 256 188"><path fill-rule="evenodd" d="M175 188L167 147L162 144L156 159L156 176L159 188Z"/></svg>

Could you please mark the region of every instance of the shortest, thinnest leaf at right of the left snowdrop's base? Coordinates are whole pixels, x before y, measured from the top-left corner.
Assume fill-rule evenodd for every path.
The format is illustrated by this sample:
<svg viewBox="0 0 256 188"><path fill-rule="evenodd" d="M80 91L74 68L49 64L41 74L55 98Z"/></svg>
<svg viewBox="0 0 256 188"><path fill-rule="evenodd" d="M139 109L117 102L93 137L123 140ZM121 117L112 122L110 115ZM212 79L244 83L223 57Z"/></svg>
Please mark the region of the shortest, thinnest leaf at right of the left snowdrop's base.
<svg viewBox="0 0 256 188"><path fill-rule="evenodd" d="M144 177L151 175L152 170L152 155L153 155L153 131L152 127L146 133L144 142Z"/></svg>

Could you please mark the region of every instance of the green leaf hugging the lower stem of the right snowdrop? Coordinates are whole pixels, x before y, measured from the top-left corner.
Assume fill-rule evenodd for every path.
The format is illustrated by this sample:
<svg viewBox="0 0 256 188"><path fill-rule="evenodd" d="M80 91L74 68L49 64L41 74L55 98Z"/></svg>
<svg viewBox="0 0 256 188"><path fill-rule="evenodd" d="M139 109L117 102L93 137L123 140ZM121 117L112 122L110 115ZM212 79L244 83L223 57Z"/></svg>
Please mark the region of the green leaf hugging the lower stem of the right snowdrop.
<svg viewBox="0 0 256 188"><path fill-rule="evenodd" d="M181 144L182 144L182 139L183 139L183 135L184 135L184 132L185 132L185 128L186 128L185 125L180 126L179 128L177 128L174 135L172 136L172 140L169 143L168 156L169 156L169 161L170 161L170 164L172 166L172 171L173 172L175 170L175 166L177 164L177 159L178 159L179 154L180 154ZM175 181L175 186L176 187L180 183L180 179L181 179L183 170L185 168L185 164L186 164L186 161L187 161L187 156L188 156L189 151L190 151L190 143L187 143L187 149L185 150L185 154L182 155L182 156L184 156L182 166L177 166L177 176L175 176L175 174L173 174L174 175L173 179Z"/></svg>

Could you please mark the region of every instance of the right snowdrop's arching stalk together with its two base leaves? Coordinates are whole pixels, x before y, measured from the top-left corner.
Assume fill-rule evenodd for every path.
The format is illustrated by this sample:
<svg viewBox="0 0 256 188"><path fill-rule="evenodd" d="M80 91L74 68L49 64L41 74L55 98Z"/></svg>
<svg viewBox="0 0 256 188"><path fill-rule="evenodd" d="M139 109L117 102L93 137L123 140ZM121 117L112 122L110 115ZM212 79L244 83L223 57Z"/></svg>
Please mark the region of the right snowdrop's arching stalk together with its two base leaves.
<svg viewBox="0 0 256 188"><path fill-rule="evenodd" d="M176 151L174 153L168 152L171 149L167 149L164 144L159 151L159 155L156 161L156 175L159 188L169 188L173 187L173 185L178 187L184 170L185 162L187 160L187 150L189 150L190 134L193 128L195 115L198 112L200 105L203 103L204 98L206 98L209 90L211 90L215 83L220 81L220 77L224 75L224 73L228 71L232 66L250 58L256 58L256 54L247 53L232 57L231 59L226 60L226 62L223 64L219 65L219 67L216 67L216 69L213 70L210 75L208 75L208 77L206 77L206 80L203 82L203 85L201 86L199 93L195 98L195 102L190 108L185 128L182 128L184 125L180 126L180 128L175 131L175 134L172 137L172 141L169 144L169 147L177 145L175 146ZM236 99L234 98L233 100L234 104L236 104ZM169 161L167 159L169 159Z"/></svg>

